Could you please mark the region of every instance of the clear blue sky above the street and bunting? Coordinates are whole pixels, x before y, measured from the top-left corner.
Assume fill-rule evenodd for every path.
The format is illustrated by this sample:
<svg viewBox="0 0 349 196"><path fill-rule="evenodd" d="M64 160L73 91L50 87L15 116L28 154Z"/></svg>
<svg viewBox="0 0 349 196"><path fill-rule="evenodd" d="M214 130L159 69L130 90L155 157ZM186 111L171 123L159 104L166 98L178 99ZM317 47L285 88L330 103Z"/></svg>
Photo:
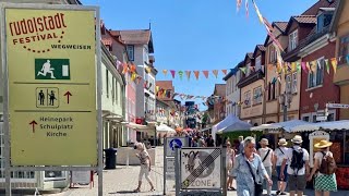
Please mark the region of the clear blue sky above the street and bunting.
<svg viewBox="0 0 349 196"><path fill-rule="evenodd" d="M215 84L225 83L220 70L233 68L255 45L264 44L265 28L249 1L246 17L244 4L237 12L236 0L82 0L83 4L100 7L107 28L145 29L152 21L155 66L159 71L156 79L172 79L170 73L165 77L163 70L219 70L217 79L212 72L208 79L201 72L198 81L193 73L190 81L176 75L176 91L193 96L212 95ZM316 1L256 0L256 3L272 23L288 21Z"/></svg>

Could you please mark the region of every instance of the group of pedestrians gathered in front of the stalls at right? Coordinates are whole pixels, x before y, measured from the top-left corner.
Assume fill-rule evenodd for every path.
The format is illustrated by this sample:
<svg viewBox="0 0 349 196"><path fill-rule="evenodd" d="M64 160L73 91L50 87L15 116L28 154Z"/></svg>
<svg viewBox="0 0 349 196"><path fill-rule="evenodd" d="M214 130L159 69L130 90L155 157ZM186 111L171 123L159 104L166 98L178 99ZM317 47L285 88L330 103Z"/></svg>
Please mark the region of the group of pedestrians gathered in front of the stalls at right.
<svg viewBox="0 0 349 196"><path fill-rule="evenodd" d="M287 147L288 142L280 138L276 149L268 147L266 138L260 140L258 149L254 137L242 139L240 136L239 140L241 148L238 150L231 149L230 142L227 142L227 187L237 189L238 196L262 195L263 187L267 195L272 195L273 171L276 171L278 177L276 195L287 195L285 191L288 185L291 196L301 196L306 182L313 179L315 196L329 196L330 192L337 191L337 166L329 151L330 142L321 140L314 145L317 152L311 170L309 152L301 147L303 139L299 135L291 139L291 147ZM237 182L237 188L231 186L233 180Z"/></svg>

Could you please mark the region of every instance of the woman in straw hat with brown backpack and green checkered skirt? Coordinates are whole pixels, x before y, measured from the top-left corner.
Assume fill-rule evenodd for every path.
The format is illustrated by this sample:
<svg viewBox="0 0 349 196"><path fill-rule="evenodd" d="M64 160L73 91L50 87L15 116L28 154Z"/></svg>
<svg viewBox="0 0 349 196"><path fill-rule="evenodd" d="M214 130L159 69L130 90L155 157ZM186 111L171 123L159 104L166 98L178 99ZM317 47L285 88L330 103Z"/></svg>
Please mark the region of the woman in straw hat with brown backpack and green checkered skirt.
<svg viewBox="0 0 349 196"><path fill-rule="evenodd" d="M308 181L315 174L315 196L329 196L329 192L337 192L336 161L329 151L332 142L321 140L314 145L318 151L314 156L314 167ZM316 173L317 172L317 173Z"/></svg>

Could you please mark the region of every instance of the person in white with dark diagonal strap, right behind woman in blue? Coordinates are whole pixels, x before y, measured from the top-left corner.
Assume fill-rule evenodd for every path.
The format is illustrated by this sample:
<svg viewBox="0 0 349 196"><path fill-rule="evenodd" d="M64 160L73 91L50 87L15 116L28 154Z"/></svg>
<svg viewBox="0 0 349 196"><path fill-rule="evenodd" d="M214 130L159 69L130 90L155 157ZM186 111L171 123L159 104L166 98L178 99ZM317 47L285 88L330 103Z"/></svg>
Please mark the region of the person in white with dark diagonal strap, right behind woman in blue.
<svg viewBox="0 0 349 196"><path fill-rule="evenodd" d="M274 152L273 149L268 147L269 142L267 138L262 138L260 142L262 148L258 149L258 155L261 156L263 166L268 174L272 176L272 168L273 168L273 160L274 160ZM272 195L272 186L266 183L267 195Z"/></svg>

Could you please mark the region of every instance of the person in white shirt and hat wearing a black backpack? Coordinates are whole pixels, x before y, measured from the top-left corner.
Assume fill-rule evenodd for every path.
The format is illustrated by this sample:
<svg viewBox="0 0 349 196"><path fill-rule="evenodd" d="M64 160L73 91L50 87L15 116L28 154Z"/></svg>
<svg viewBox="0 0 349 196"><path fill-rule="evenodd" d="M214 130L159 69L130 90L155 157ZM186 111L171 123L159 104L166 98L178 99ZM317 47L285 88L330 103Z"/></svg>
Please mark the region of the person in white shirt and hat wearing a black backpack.
<svg viewBox="0 0 349 196"><path fill-rule="evenodd" d="M309 152L306 149L301 147L303 139L300 135L296 135L291 142L293 147L286 151L280 175L281 180L284 180L286 163L290 160L290 164L287 167L290 196L294 196L296 192L298 196L302 196L306 186L306 177L310 175Z"/></svg>

